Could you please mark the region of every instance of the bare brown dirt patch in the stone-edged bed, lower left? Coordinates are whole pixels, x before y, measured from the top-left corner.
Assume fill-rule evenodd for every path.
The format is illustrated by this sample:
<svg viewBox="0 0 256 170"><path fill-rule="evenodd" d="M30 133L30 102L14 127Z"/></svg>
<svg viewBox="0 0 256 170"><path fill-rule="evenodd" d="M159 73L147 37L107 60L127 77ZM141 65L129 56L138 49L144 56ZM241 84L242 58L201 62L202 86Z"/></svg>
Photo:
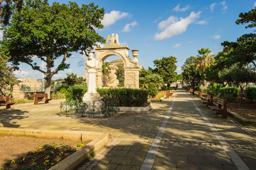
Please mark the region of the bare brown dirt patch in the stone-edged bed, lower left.
<svg viewBox="0 0 256 170"><path fill-rule="evenodd" d="M0 135L0 169L4 167L4 164L10 162L11 160L15 160L15 162L19 161L20 157L27 157L29 158L29 151L35 151L38 154L37 157L44 158L44 148L45 144L53 144L56 148L60 148L62 151L62 146L67 146L66 150L70 150L70 147L74 148L74 146L81 145L81 141L68 141L64 139L40 139L40 138L33 138L33 137L17 137L17 136L3 136ZM82 144L85 145L90 141L83 142ZM52 145L52 146L53 146ZM38 148L42 147L42 153L38 153ZM69 148L68 148L69 147ZM77 147L79 149L79 147ZM49 152L46 150L45 152ZM64 151L65 152L65 151ZM73 151L74 152L74 151ZM57 151L56 151L57 153ZM72 153L72 152L70 152ZM34 154L34 153L33 153ZM33 155L31 154L31 155ZM55 154L55 153L54 153ZM66 153L65 153L66 154ZM60 153L58 153L60 155ZM66 154L68 155L68 153ZM36 155L35 155L36 156ZM61 155L62 156L62 155ZM60 158L59 158L60 160ZM40 160L39 160L40 162Z"/></svg>

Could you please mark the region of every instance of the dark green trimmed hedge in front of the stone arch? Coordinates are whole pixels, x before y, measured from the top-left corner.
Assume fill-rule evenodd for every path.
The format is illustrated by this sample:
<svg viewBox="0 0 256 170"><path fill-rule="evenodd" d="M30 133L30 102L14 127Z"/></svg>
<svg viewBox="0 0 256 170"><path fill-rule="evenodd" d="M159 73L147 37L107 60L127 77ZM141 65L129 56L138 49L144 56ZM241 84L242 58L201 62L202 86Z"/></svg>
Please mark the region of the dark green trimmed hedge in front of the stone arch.
<svg viewBox="0 0 256 170"><path fill-rule="evenodd" d="M147 102L148 91L143 89L97 89L105 104L115 102L116 107L143 106Z"/></svg>

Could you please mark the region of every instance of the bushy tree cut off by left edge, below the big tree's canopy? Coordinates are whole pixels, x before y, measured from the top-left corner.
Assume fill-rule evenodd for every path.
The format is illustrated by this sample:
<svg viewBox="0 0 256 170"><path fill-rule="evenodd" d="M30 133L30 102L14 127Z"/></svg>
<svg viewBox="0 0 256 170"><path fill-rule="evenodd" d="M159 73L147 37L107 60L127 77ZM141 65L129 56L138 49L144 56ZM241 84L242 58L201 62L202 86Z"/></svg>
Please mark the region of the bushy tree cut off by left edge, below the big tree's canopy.
<svg viewBox="0 0 256 170"><path fill-rule="evenodd" d="M7 65L8 57L0 50L0 93L4 94L4 90L12 91L12 86L17 82L13 74L13 69Z"/></svg>

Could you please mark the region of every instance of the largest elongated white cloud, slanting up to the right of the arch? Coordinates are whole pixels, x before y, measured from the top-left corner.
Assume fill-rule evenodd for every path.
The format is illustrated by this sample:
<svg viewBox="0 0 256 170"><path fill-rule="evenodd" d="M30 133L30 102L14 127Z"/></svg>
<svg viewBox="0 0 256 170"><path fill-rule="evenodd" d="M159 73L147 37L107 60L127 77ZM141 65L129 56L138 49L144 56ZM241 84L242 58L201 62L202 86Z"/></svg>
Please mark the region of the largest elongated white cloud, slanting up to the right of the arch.
<svg viewBox="0 0 256 170"><path fill-rule="evenodd" d="M186 18L180 18L179 21L175 21L170 26L166 26L164 31L161 33L156 33L155 39L156 40L165 40L168 38L171 38L172 36L175 35L180 35L181 33L184 33L189 24L195 21L199 17L201 12L191 12L190 15ZM170 17L169 17L170 18Z"/></svg>

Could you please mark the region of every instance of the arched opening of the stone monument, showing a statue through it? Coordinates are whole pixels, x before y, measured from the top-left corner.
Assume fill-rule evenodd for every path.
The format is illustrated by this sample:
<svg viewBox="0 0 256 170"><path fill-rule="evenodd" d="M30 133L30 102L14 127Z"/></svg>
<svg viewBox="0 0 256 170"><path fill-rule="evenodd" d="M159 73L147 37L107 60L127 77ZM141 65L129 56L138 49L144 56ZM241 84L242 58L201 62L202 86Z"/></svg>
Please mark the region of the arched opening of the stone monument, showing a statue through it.
<svg viewBox="0 0 256 170"><path fill-rule="evenodd" d="M107 56L102 60L102 86L124 87L124 61L120 56Z"/></svg>

